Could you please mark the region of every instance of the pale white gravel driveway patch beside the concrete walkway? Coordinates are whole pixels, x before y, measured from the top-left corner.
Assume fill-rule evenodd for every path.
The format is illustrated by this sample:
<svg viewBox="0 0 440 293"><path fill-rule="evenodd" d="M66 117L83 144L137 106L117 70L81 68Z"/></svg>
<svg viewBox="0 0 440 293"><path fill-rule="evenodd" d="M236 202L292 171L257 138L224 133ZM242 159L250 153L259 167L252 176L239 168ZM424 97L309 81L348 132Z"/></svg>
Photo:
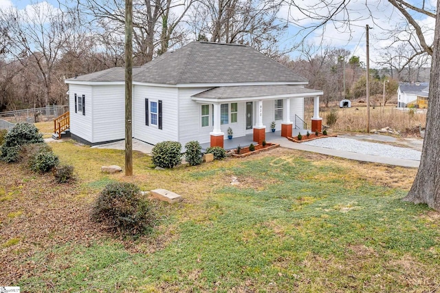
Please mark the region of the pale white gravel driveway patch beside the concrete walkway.
<svg viewBox="0 0 440 293"><path fill-rule="evenodd" d="M363 153L365 155L380 155L382 157L420 160L421 152L414 149L407 149L388 144L377 144L375 142L362 142L351 138L322 138L302 142L310 146L319 146L327 149L337 149L339 151L350 151L352 153Z"/></svg>

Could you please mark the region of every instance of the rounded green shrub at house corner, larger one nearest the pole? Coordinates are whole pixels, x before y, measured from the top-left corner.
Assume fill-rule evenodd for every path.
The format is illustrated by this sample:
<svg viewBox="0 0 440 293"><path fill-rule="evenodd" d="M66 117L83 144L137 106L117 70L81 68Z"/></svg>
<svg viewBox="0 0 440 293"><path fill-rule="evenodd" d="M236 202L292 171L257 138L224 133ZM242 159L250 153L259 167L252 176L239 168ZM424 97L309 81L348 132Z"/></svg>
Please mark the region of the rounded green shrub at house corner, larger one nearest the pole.
<svg viewBox="0 0 440 293"><path fill-rule="evenodd" d="M153 164L161 168L173 168L181 163L180 142L159 142L153 147Z"/></svg>

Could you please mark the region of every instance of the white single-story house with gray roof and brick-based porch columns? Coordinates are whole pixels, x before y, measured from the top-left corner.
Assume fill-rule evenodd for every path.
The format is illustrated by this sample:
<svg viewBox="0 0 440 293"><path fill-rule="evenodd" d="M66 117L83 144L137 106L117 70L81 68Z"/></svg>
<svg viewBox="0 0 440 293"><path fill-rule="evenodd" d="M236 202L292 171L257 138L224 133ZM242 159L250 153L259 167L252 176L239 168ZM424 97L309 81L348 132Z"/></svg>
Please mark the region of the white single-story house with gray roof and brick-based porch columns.
<svg viewBox="0 0 440 293"><path fill-rule="evenodd" d="M123 140L124 68L65 80L72 138L86 144ZM156 144L191 140L223 146L253 133L262 142L270 123L292 136L304 120L304 98L314 98L311 130L321 130L319 96L308 81L246 45L192 42L133 68L133 138Z"/></svg>

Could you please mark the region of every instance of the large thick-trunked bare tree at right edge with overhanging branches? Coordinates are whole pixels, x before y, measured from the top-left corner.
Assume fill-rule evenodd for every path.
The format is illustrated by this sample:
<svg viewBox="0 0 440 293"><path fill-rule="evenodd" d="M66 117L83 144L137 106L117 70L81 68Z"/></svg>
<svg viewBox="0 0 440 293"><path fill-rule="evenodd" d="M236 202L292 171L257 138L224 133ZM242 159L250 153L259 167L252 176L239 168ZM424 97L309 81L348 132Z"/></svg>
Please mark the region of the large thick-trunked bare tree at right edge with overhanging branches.
<svg viewBox="0 0 440 293"><path fill-rule="evenodd" d="M305 17L311 16L318 21L315 27L332 21L349 25L351 21L351 11L347 8L349 2L337 3L322 0L319 3L323 6L328 4L327 10L317 10L317 7L310 6L308 9L300 8L300 10ZM431 208L440 210L440 148L438 146L440 141L440 131L438 131L440 128L440 15L437 14L440 1L437 1L436 8L430 8L430 3L424 0L415 5L403 0L388 0L388 2L406 19L410 32L413 32L411 36L419 44L420 50L432 56L429 105L421 161L415 181L404 199L415 204L428 204ZM294 1L291 5L298 7ZM326 12L322 13L322 11ZM424 31L417 21L417 17L421 15L436 18L433 43L427 41L426 33L430 32Z"/></svg>

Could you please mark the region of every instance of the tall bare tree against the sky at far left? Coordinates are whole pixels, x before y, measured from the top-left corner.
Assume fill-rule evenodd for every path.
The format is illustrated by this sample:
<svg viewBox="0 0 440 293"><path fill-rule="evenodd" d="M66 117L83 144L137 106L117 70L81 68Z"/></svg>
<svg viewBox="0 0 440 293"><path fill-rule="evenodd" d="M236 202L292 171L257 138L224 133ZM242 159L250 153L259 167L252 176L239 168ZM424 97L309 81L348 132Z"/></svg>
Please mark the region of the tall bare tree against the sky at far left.
<svg viewBox="0 0 440 293"><path fill-rule="evenodd" d="M41 87L44 104L49 105L54 68L75 28L74 15L43 2L25 10L2 10L0 23L3 30L7 28L6 54L33 72L39 80L36 85Z"/></svg>

